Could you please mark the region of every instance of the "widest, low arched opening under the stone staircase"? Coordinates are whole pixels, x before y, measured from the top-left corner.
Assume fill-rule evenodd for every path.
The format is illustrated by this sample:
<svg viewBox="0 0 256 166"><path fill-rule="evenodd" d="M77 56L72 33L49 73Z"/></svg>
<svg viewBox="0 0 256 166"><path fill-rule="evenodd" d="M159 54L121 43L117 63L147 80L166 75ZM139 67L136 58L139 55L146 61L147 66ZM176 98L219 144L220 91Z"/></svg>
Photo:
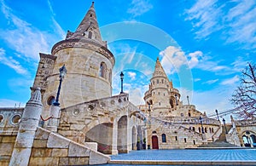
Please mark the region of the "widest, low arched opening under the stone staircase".
<svg viewBox="0 0 256 166"><path fill-rule="evenodd" d="M85 134L85 142L96 142L97 151L105 154L112 153L113 124L102 123L90 129Z"/></svg>

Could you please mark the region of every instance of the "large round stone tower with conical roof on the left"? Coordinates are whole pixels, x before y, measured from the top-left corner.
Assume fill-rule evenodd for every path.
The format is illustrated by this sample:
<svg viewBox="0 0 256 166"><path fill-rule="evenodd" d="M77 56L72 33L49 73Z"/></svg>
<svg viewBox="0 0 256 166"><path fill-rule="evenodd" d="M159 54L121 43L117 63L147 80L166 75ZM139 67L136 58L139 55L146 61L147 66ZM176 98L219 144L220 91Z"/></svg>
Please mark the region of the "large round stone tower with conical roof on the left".
<svg viewBox="0 0 256 166"><path fill-rule="evenodd" d="M59 68L65 65L65 76L60 95L61 107L112 95L113 54L102 41L91 4L76 31L67 31L67 37L55 43L51 54L40 54L33 87L43 89L44 110L48 112L59 85Z"/></svg>

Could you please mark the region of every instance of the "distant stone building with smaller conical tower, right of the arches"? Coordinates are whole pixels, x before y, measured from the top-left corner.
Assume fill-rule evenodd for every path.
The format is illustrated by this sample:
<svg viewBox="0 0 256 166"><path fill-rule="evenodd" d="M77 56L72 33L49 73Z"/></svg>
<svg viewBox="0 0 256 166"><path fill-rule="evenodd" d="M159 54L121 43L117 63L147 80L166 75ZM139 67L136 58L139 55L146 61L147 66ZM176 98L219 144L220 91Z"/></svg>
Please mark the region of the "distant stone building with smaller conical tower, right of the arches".
<svg viewBox="0 0 256 166"><path fill-rule="evenodd" d="M197 147L219 140L225 132L220 121L207 117L206 113L196 110L194 105L183 105L180 97L179 91L166 77L166 72L157 59L148 91L144 94L145 105L139 106L147 114L148 147L154 149ZM244 135L243 137L252 142L250 145L253 146L253 142L256 143L255 129L250 125L255 124L247 123L247 127L243 126L240 129L241 123L239 123L230 128L229 133L224 134L225 140L236 146L244 146L240 143L243 142L242 135Z"/></svg>

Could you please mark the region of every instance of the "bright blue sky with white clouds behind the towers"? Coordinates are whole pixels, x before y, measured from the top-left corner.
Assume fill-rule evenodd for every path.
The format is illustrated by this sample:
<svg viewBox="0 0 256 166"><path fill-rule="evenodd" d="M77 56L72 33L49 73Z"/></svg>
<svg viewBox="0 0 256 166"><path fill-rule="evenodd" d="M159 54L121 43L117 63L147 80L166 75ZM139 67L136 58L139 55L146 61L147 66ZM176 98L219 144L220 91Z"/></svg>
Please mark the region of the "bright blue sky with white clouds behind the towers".
<svg viewBox="0 0 256 166"><path fill-rule="evenodd" d="M88 0L0 0L0 106L24 106L30 96L39 52L75 31ZM143 104L154 63L160 58L183 103L212 114L232 108L240 71L256 60L256 1L95 1L102 37L116 58L130 100Z"/></svg>

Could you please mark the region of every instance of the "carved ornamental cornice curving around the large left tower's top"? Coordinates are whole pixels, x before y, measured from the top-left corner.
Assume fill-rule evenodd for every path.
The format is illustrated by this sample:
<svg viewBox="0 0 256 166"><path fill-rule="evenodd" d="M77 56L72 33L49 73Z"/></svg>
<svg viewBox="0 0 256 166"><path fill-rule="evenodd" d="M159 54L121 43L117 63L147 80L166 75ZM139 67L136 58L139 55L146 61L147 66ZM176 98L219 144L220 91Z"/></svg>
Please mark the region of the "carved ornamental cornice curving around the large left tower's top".
<svg viewBox="0 0 256 166"><path fill-rule="evenodd" d="M91 39L74 38L62 40L61 42L55 43L55 45L51 49L51 54L55 54L61 49L67 48L83 48L95 50L97 53L103 54L106 58L108 58L108 60L110 60L112 65L114 66L115 60L111 51L108 50L106 47L102 46L101 44L92 41Z"/></svg>

